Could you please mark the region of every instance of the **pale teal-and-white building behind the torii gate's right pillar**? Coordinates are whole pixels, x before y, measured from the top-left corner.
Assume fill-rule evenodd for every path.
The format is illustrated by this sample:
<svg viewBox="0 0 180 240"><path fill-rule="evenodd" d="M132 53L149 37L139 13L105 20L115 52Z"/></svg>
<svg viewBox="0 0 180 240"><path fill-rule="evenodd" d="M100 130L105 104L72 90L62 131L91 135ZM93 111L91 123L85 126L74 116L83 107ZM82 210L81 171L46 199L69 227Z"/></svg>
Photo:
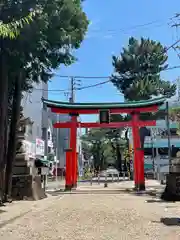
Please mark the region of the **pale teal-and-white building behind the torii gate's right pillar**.
<svg viewBox="0 0 180 240"><path fill-rule="evenodd" d="M177 101L169 101L169 107L178 107ZM170 146L171 157L175 157L180 150L180 136L177 134L178 124L169 121L170 125ZM145 154L145 170L152 171L154 167L159 168L161 172L169 170L168 156L168 132L165 120L157 120L156 126L147 127L151 130L151 136L145 137L144 154ZM133 146L132 131L129 131L130 145Z"/></svg>

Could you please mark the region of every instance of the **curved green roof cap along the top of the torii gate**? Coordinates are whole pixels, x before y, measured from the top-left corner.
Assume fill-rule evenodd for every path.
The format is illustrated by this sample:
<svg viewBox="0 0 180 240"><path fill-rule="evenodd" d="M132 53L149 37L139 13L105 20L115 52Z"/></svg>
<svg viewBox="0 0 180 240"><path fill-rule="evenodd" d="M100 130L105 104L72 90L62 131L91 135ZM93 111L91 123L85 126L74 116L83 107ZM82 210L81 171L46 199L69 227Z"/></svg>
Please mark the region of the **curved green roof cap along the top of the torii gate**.
<svg viewBox="0 0 180 240"><path fill-rule="evenodd" d="M145 101L132 101L132 102L112 102L112 103L70 103L58 102L48 99L43 99L43 103L47 107L61 108L61 109L117 109L117 108L140 108L149 107L153 105L162 105L166 99L164 97L154 98Z"/></svg>

